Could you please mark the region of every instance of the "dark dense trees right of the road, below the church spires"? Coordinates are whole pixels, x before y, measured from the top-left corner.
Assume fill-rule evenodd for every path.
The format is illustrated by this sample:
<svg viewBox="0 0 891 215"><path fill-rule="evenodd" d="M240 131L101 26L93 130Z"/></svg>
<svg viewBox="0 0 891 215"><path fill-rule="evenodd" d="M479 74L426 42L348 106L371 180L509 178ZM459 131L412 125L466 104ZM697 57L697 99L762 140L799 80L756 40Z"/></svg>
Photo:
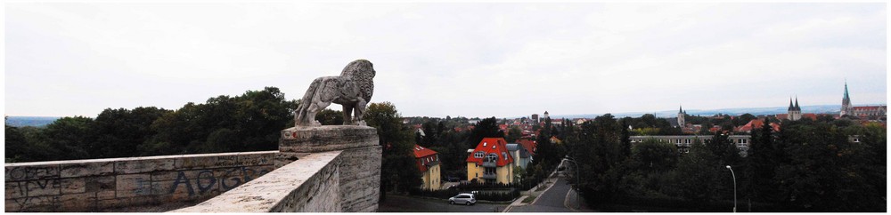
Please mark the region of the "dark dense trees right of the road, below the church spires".
<svg viewBox="0 0 891 215"><path fill-rule="evenodd" d="M631 147L625 130L611 115L601 115L562 131L568 135L569 157L579 164L576 187L593 205L635 199L640 205L729 211L729 165L736 175L739 211L749 200L752 211L886 211L887 131L880 124L782 121L780 131L764 126L752 132L746 158L720 132L680 154L674 144L655 140Z"/></svg>

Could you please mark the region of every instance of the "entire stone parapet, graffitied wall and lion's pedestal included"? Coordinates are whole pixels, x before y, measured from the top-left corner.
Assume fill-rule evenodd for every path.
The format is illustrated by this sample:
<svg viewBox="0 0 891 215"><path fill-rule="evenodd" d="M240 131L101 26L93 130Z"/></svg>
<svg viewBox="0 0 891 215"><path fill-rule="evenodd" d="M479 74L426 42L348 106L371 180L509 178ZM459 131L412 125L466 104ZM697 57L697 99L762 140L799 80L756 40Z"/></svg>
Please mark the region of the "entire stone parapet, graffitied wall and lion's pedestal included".
<svg viewBox="0 0 891 215"><path fill-rule="evenodd" d="M207 199L176 212L378 210L382 151L374 128L290 128L279 145L280 151L8 163L5 211Z"/></svg>

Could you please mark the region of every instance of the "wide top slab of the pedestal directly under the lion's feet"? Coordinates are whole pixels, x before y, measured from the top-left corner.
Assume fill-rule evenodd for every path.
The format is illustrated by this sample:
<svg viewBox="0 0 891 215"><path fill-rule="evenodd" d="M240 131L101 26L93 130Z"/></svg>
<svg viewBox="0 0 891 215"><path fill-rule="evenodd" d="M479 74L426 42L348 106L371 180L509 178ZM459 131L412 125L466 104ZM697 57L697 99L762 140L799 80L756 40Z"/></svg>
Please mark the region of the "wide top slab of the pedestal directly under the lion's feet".
<svg viewBox="0 0 891 215"><path fill-rule="evenodd" d="M282 130L279 151L313 153L377 145L377 130L368 126L291 127Z"/></svg>

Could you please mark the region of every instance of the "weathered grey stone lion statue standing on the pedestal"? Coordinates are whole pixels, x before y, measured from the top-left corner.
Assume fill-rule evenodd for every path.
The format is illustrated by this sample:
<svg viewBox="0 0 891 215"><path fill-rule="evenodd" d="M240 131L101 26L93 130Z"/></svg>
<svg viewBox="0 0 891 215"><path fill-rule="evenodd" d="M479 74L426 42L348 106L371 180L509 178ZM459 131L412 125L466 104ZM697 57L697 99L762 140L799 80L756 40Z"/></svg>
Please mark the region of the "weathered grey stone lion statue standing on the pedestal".
<svg viewBox="0 0 891 215"><path fill-rule="evenodd" d="M355 60L343 68L340 76L315 78L297 106L294 125L321 126L322 123L315 120L315 114L331 103L343 106L344 124L365 125L362 115L368 101L372 100L375 73L371 61Z"/></svg>

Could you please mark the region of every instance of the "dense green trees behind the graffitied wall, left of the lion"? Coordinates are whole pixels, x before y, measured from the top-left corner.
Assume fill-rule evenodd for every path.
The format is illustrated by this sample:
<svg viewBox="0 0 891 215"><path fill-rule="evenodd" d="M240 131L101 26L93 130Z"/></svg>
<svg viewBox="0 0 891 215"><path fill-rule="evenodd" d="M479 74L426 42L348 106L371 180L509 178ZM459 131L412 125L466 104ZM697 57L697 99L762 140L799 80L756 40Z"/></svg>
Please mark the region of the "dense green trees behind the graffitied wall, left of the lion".
<svg viewBox="0 0 891 215"><path fill-rule="evenodd" d="M274 150L296 100L278 88L218 96L167 110L107 108L45 128L6 126L6 162Z"/></svg>

